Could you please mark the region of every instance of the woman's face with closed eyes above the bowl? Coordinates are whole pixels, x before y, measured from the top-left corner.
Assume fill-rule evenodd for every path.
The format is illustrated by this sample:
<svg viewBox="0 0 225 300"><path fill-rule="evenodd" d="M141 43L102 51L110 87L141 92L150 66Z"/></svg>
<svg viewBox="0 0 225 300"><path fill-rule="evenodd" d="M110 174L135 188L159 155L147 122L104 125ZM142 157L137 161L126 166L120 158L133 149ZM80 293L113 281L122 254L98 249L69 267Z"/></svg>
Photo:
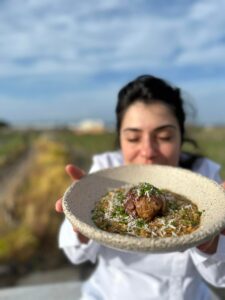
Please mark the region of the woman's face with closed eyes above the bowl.
<svg viewBox="0 0 225 300"><path fill-rule="evenodd" d="M181 151L178 122L161 102L135 102L124 114L120 145L125 164L177 166Z"/></svg>

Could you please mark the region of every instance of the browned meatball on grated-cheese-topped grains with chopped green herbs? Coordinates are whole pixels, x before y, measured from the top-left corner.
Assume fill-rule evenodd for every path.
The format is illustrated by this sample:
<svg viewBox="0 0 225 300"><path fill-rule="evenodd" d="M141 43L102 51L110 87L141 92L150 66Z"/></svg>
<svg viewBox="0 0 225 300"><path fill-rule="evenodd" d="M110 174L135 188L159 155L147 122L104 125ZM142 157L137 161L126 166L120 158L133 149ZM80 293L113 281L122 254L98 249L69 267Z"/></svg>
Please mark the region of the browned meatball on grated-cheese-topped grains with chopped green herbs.
<svg viewBox="0 0 225 300"><path fill-rule="evenodd" d="M201 214L186 197L142 182L109 190L96 203L92 220L108 232L155 238L190 234Z"/></svg>

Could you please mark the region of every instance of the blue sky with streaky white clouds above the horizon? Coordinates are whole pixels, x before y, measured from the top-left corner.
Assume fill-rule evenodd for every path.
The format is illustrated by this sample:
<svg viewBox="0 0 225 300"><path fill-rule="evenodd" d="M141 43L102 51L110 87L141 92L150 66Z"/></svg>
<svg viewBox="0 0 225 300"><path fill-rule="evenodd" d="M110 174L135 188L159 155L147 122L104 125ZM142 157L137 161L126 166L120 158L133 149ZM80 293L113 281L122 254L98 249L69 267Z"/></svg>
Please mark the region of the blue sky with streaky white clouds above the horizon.
<svg viewBox="0 0 225 300"><path fill-rule="evenodd" d="M114 122L142 74L180 87L190 120L225 124L225 0L0 1L0 119Z"/></svg>

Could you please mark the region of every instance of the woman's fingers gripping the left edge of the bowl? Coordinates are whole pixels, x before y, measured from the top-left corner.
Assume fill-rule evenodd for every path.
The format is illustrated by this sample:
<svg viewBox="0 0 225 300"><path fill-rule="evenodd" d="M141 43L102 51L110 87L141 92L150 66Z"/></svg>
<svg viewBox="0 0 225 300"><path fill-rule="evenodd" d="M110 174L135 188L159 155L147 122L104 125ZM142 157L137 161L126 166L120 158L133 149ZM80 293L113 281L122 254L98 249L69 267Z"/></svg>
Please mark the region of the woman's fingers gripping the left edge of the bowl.
<svg viewBox="0 0 225 300"><path fill-rule="evenodd" d="M72 180L74 182L79 181L85 175L85 172L83 170L79 169L78 167L76 167L74 165L67 165L65 170L66 170L66 173L72 178ZM58 213L63 212L62 198L60 198L56 201L55 210ZM85 243L85 244L88 243L89 239L86 236L81 234L75 227L73 227L73 230L74 230L74 232L77 233L77 236L81 243Z"/></svg>

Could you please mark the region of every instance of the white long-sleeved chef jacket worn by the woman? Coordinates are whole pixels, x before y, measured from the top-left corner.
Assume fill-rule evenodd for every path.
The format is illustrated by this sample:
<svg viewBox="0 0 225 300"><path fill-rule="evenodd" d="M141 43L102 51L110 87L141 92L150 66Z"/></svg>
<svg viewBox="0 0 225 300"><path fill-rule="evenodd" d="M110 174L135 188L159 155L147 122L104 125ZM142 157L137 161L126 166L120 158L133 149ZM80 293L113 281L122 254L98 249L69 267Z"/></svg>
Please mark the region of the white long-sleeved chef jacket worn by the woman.
<svg viewBox="0 0 225 300"><path fill-rule="evenodd" d="M93 157L90 172L122 164L120 151L106 152ZM220 166L209 159L198 159L192 170L222 181ZM222 235L213 255L197 248L163 254L132 253L92 240L81 244L65 219L60 228L59 247L74 264L98 259L96 270L83 285L82 300L210 300L205 281L225 287L225 236Z"/></svg>

